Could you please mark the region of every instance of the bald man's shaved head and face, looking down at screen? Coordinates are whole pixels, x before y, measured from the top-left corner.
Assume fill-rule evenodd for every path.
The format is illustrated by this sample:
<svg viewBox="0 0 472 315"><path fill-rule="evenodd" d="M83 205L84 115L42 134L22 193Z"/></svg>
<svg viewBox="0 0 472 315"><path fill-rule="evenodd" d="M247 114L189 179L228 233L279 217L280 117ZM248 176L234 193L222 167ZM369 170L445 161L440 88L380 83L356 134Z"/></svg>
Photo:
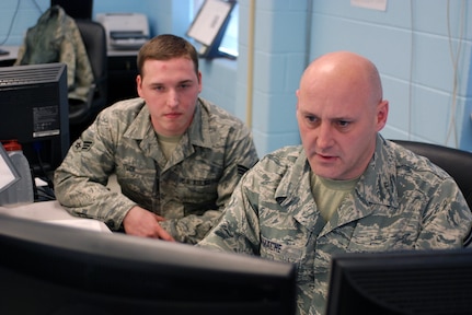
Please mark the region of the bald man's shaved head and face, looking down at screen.
<svg viewBox="0 0 472 315"><path fill-rule="evenodd" d="M313 172L331 179L362 174L388 116L377 67L349 51L310 63L297 91L297 119Z"/></svg>

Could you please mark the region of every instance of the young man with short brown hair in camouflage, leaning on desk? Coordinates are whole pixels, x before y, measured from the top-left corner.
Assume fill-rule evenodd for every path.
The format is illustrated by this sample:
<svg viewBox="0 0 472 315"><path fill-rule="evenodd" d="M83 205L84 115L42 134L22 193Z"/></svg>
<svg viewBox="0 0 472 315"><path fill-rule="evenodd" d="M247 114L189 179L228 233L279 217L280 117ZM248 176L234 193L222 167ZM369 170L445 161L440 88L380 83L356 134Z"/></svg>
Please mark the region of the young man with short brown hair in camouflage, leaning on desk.
<svg viewBox="0 0 472 315"><path fill-rule="evenodd" d="M54 175L57 200L112 231L195 244L257 161L244 124L200 98L194 46L159 35L138 54L140 97L102 110ZM106 185L116 174L120 194Z"/></svg>

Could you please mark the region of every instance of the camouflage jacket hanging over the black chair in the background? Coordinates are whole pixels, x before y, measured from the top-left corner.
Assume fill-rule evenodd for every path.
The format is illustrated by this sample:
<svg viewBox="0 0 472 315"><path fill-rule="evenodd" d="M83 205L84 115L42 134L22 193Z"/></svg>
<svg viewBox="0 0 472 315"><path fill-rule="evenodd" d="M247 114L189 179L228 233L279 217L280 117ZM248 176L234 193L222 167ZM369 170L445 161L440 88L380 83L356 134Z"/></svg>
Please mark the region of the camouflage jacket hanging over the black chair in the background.
<svg viewBox="0 0 472 315"><path fill-rule="evenodd" d="M76 21L60 7L51 7L30 27L19 48L15 66L67 65L69 98L87 101L93 83L92 66Z"/></svg>

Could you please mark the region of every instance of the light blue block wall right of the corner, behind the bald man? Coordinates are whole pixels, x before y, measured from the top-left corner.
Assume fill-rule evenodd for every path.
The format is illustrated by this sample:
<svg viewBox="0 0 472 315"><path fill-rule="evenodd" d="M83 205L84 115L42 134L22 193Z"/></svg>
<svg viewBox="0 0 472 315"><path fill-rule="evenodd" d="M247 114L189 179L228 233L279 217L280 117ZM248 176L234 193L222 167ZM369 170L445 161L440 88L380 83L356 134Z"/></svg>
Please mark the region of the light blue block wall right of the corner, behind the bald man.
<svg viewBox="0 0 472 315"><path fill-rule="evenodd" d="M390 0L384 12L314 1L310 54L346 49L373 60L390 101L384 137L472 150L471 10L459 0Z"/></svg>

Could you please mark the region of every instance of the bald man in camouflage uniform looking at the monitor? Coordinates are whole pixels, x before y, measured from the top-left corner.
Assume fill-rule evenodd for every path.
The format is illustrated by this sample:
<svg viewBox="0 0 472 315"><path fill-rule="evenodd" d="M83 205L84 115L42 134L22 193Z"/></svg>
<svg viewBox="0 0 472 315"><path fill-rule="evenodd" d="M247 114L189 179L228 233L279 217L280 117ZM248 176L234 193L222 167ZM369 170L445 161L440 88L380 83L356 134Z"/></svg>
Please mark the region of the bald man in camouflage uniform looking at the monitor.
<svg viewBox="0 0 472 315"><path fill-rule="evenodd" d="M333 254L462 247L472 214L458 185L379 133L389 102L370 60L315 59L297 98L302 144L261 159L197 246L295 264L299 314L324 314Z"/></svg>

